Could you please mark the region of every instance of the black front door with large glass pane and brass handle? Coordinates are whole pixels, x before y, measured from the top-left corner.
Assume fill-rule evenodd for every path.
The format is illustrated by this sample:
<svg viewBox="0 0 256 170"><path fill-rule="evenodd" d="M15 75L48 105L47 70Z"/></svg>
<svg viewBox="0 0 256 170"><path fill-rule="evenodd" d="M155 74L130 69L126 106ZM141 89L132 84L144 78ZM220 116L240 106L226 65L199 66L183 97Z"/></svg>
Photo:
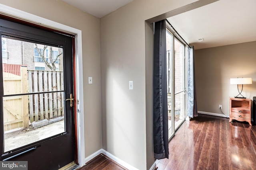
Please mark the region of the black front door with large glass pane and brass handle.
<svg viewBox="0 0 256 170"><path fill-rule="evenodd" d="M0 19L0 160L75 161L72 37Z"/></svg>

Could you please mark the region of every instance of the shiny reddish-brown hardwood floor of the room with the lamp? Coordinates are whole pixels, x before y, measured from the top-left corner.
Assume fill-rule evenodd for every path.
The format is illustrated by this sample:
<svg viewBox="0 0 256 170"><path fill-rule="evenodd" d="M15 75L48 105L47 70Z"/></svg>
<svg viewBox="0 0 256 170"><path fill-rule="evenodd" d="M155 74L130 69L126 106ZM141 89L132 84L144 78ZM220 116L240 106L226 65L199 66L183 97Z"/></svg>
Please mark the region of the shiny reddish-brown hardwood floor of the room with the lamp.
<svg viewBox="0 0 256 170"><path fill-rule="evenodd" d="M213 116L185 121L157 170L256 170L256 126Z"/></svg>

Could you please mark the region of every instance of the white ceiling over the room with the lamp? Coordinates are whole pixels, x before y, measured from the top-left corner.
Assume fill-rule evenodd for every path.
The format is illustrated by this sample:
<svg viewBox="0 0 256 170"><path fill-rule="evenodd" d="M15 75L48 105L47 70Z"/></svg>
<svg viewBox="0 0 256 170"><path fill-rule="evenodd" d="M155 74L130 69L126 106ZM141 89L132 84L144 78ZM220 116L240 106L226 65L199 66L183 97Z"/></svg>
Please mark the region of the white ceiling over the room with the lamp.
<svg viewBox="0 0 256 170"><path fill-rule="evenodd" d="M256 41L255 7L256 0L219 0L168 21L195 49L244 43Z"/></svg>

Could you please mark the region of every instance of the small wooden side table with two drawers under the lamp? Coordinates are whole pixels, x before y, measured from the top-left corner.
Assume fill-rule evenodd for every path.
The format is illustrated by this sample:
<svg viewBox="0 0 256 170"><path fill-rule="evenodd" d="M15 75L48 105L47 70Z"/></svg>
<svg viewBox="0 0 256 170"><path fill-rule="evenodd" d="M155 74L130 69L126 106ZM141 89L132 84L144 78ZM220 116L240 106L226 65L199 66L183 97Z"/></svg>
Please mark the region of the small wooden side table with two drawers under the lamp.
<svg viewBox="0 0 256 170"><path fill-rule="evenodd" d="M230 98L229 106L229 122L234 119L237 121L247 121L249 125L252 125L250 99Z"/></svg>

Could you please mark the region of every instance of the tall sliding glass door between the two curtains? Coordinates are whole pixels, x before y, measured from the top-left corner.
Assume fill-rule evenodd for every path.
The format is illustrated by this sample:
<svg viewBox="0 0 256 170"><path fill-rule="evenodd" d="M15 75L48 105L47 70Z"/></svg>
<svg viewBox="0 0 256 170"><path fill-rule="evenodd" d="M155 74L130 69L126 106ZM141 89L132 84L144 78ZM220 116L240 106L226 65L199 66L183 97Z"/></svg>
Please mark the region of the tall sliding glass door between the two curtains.
<svg viewBox="0 0 256 170"><path fill-rule="evenodd" d="M185 45L166 29L169 139L185 120Z"/></svg>

